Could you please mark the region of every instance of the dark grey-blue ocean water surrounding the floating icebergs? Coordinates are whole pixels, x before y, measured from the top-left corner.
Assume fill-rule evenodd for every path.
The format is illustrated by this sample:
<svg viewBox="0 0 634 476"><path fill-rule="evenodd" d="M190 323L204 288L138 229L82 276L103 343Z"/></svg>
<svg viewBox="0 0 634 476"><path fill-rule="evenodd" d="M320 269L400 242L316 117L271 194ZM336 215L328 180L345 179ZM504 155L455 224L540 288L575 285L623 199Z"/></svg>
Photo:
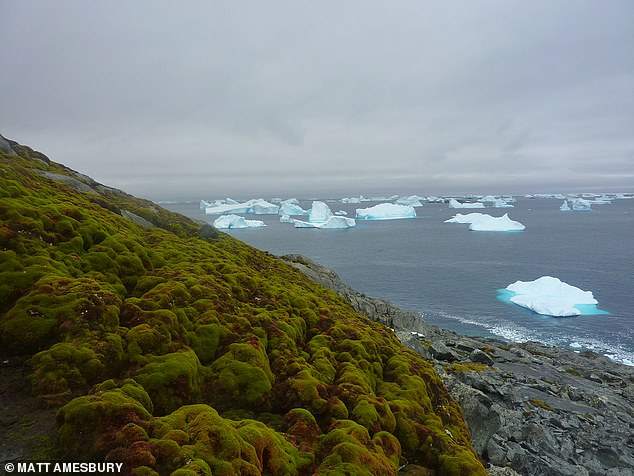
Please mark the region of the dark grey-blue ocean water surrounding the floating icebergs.
<svg viewBox="0 0 634 476"><path fill-rule="evenodd" d="M333 210L355 216L375 202ZM304 209L310 201L300 201ZM456 210L447 204L417 207L418 217L357 221L346 230L296 229L275 215L250 216L267 226L228 230L277 255L299 253L332 268L353 288L419 312L428 322L466 335L535 340L593 350L634 365L634 200L562 212L562 200L518 198L514 208ZM217 216L192 203L164 205L213 223ZM456 213L508 213L523 232L473 232L444 220ZM305 219L305 217L304 217ZM602 312L577 317L541 316L500 299L500 289L541 276L592 291Z"/></svg>

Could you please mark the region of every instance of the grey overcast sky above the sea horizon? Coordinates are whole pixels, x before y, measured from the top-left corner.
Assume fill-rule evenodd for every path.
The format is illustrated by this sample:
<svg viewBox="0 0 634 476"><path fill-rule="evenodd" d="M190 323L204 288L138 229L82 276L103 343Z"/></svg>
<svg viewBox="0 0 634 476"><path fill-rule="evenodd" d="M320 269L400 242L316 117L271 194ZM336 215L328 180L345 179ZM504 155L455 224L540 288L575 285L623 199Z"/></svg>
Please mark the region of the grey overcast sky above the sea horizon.
<svg viewBox="0 0 634 476"><path fill-rule="evenodd" d="M153 200L634 191L634 1L0 0L0 134Z"/></svg>

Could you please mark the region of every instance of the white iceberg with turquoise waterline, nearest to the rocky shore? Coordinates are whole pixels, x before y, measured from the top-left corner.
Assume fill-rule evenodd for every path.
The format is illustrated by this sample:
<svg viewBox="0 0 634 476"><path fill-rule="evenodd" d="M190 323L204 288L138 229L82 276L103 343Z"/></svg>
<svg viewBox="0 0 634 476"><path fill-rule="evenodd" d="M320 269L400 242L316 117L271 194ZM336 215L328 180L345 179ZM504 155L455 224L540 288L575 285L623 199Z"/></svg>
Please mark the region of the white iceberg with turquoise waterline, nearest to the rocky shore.
<svg viewBox="0 0 634 476"><path fill-rule="evenodd" d="M506 300L538 314L555 317L604 313L591 291L583 291L552 276L535 281L516 281L506 288ZM504 291L504 290L501 290Z"/></svg>

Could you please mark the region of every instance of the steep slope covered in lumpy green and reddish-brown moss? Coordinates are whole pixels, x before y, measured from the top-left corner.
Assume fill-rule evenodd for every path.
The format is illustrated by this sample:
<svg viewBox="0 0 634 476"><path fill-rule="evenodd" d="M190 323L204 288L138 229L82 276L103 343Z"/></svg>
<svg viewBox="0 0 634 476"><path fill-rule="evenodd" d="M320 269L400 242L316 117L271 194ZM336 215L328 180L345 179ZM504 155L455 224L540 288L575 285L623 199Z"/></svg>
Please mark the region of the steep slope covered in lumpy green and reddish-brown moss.
<svg viewBox="0 0 634 476"><path fill-rule="evenodd" d="M432 367L389 329L266 253L11 144L0 354L30 356L56 457L139 475L486 474Z"/></svg>

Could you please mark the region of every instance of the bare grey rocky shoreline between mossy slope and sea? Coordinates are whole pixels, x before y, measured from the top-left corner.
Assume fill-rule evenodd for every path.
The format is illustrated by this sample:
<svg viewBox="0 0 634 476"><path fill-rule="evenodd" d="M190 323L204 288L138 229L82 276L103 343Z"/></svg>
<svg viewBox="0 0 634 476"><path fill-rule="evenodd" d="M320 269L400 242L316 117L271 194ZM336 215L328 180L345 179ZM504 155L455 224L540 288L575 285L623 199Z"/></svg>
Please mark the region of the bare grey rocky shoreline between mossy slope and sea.
<svg viewBox="0 0 634 476"><path fill-rule="evenodd" d="M634 367L594 352L462 336L355 291L303 256L283 259L434 363L490 474L634 474Z"/></svg>

